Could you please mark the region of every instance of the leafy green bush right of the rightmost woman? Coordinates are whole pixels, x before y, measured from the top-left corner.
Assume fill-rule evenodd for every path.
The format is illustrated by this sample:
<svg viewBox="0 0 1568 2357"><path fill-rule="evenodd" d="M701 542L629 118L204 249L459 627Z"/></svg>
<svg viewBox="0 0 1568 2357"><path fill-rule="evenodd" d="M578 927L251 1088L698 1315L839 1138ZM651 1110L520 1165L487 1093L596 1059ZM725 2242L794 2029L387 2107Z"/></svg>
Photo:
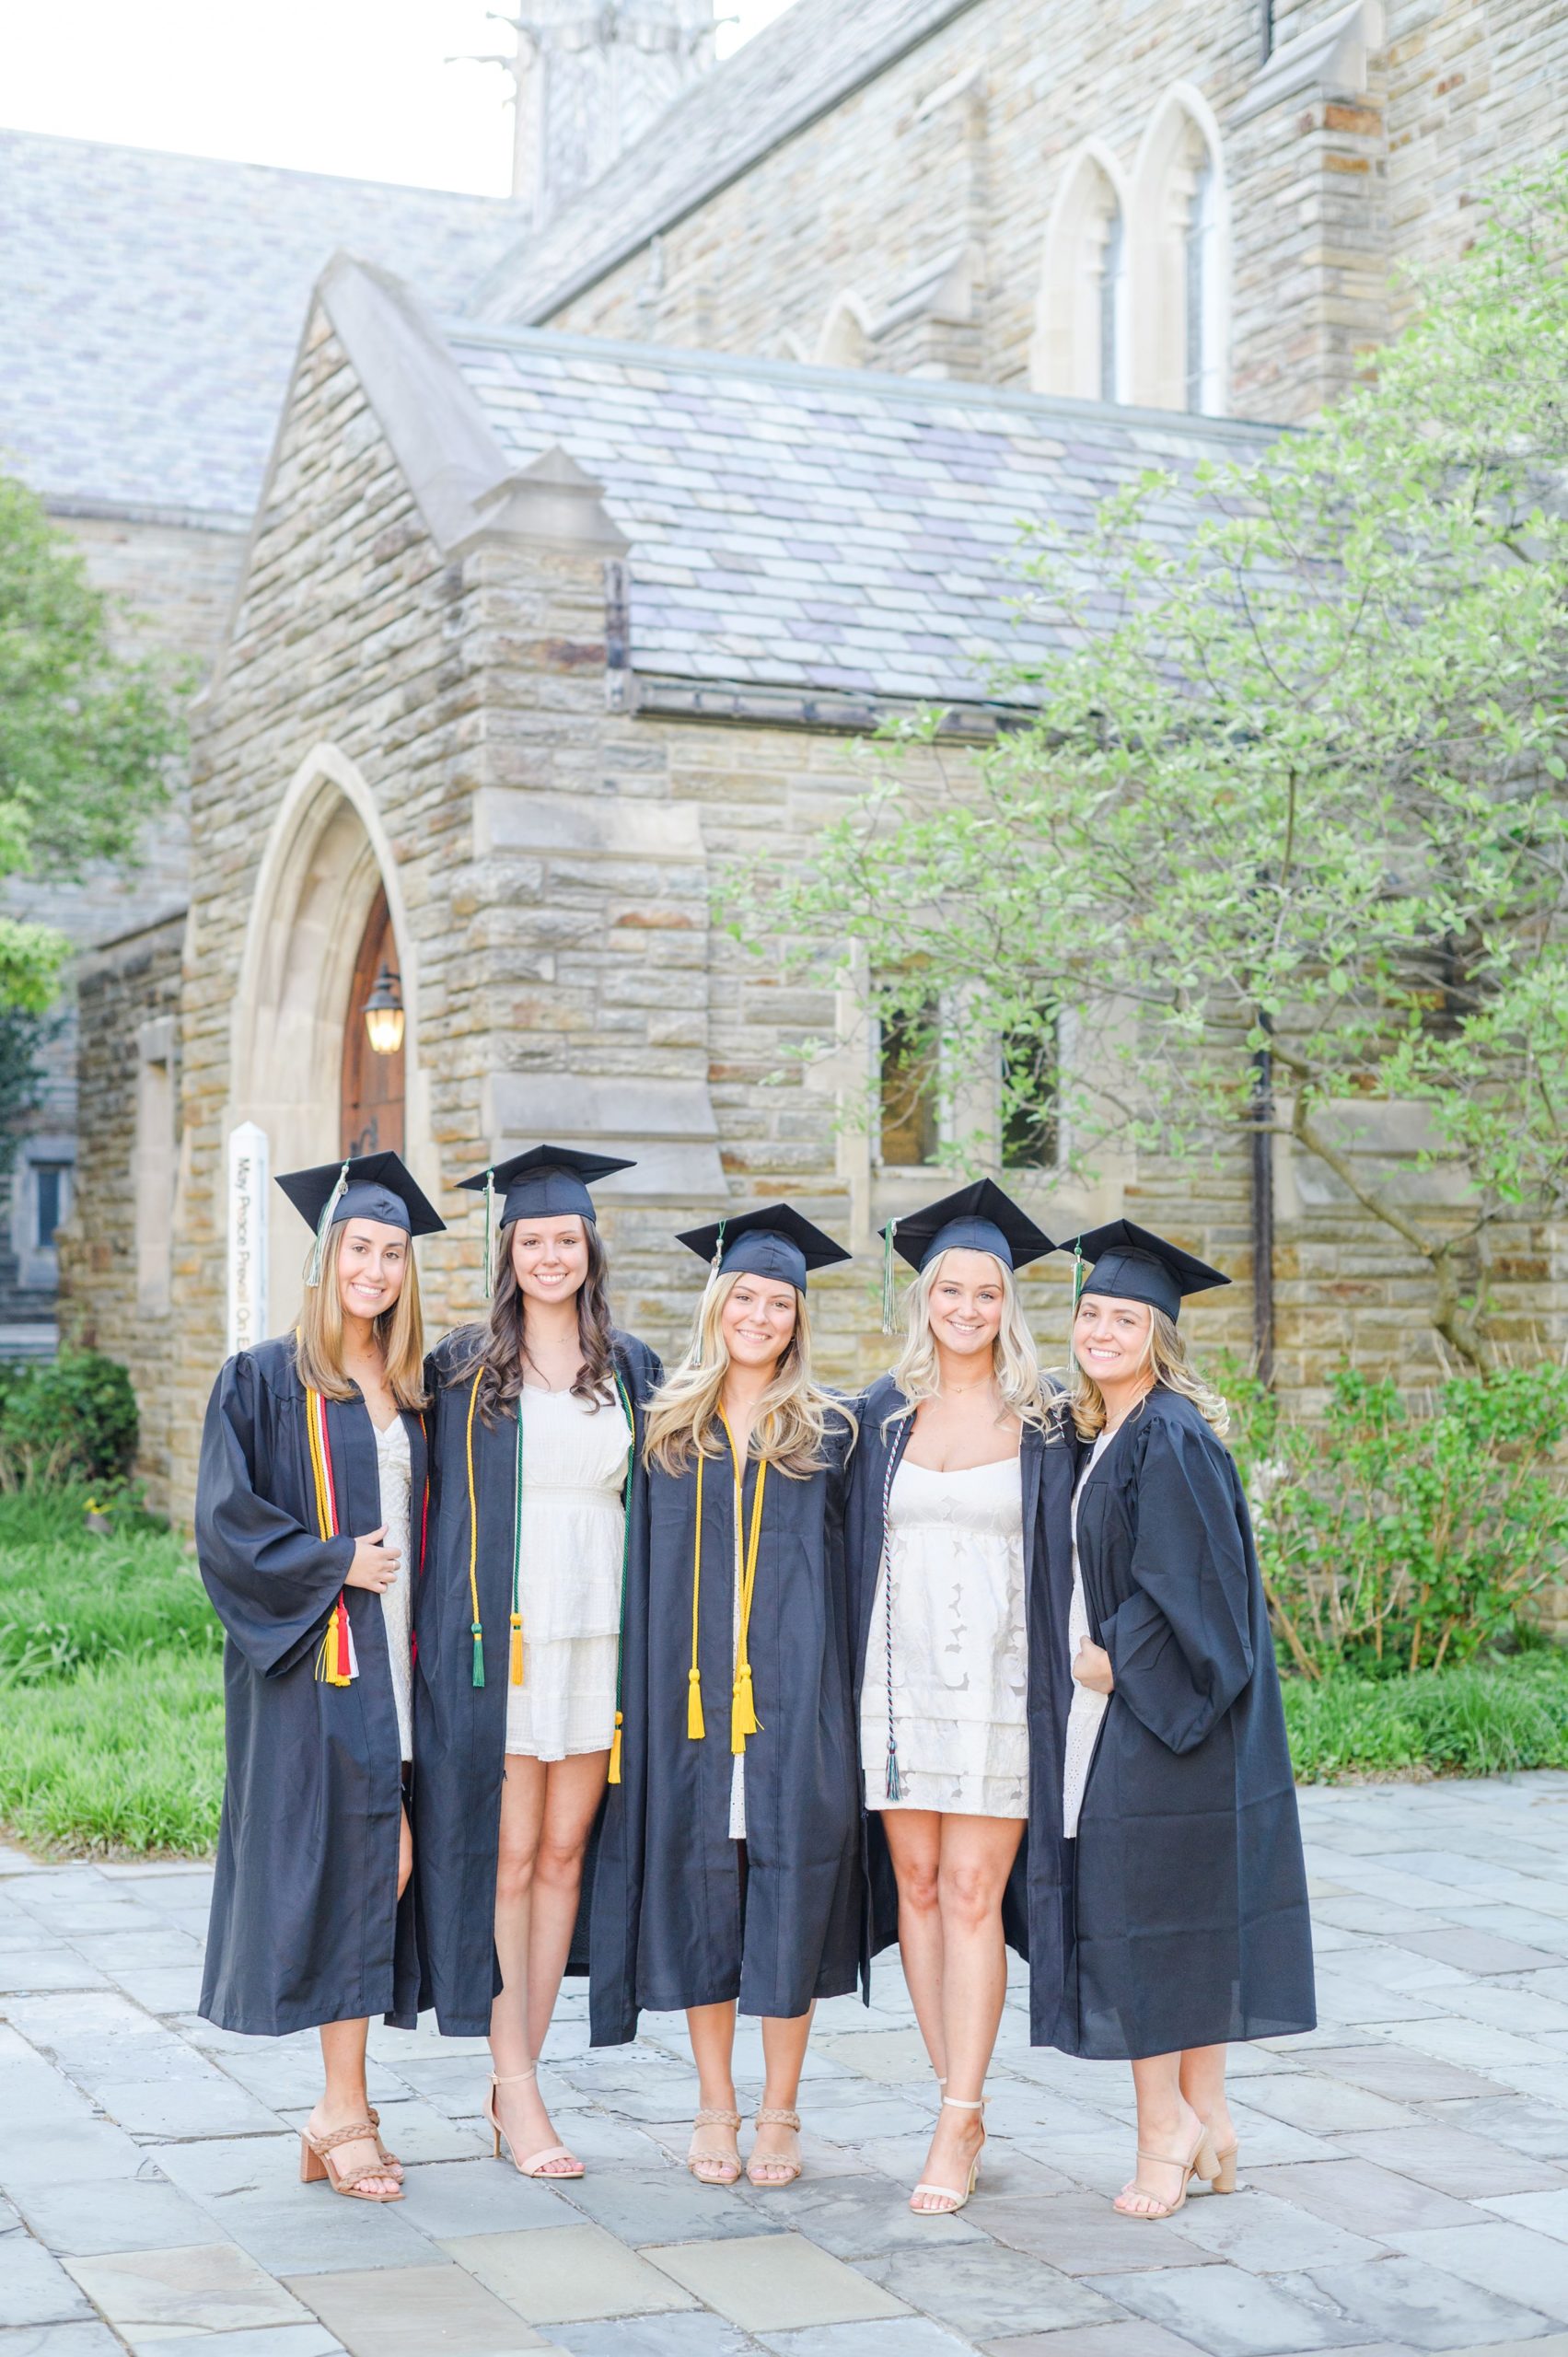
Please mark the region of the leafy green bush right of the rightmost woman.
<svg viewBox="0 0 1568 2357"><path fill-rule="evenodd" d="M1313 1426L1226 1388L1269 1610L1304 1678L1443 1669L1530 1629L1568 1560L1568 1369L1455 1376L1419 1414L1342 1367Z"/></svg>

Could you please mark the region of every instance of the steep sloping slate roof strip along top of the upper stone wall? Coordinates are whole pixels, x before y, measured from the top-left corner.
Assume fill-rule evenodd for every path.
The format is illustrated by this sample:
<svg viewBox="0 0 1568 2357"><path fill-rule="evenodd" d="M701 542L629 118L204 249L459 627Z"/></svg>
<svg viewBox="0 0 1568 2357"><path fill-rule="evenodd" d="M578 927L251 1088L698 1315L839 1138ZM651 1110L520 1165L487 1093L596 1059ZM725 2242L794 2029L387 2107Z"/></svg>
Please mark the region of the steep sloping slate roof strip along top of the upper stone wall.
<svg viewBox="0 0 1568 2357"><path fill-rule="evenodd" d="M476 316L533 325L976 0L792 0L483 280Z"/></svg>

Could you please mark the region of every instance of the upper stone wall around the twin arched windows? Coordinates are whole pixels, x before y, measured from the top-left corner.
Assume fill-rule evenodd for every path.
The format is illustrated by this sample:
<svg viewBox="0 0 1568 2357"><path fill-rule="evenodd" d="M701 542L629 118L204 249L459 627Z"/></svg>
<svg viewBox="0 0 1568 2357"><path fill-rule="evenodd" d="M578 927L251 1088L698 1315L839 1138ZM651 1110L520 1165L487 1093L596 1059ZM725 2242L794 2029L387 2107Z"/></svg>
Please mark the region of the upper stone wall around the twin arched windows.
<svg viewBox="0 0 1568 2357"><path fill-rule="evenodd" d="M1276 61L1342 14L1344 0L1280 7ZM552 325L1028 382L1068 163L1103 141L1134 236L1153 236L1146 214L1167 203L1155 115L1186 87L1212 108L1228 186L1228 405L1306 417L1398 323L1403 271L1462 250L1478 189L1561 141L1568 12L1389 0L1384 19L1363 66L1339 59L1327 87L1285 75L1259 104L1273 85L1254 0L979 0ZM1137 290L1134 309L1148 309ZM1181 403L1177 354L1139 368L1134 398Z"/></svg>

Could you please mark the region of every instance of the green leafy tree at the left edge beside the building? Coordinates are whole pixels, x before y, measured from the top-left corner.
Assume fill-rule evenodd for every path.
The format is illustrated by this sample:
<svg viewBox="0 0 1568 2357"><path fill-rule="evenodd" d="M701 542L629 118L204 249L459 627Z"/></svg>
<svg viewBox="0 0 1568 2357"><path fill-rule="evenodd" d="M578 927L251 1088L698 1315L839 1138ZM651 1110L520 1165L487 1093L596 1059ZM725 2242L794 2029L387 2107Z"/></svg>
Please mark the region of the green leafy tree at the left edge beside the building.
<svg viewBox="0 0 1568 2357"><path fill-rule="evenodd" d="M111 643L111 603L40 500L0 476L0 879L134 856L182 742L179 681ZM0 915L0 1009L42 1014L68 943Z"/></svg>

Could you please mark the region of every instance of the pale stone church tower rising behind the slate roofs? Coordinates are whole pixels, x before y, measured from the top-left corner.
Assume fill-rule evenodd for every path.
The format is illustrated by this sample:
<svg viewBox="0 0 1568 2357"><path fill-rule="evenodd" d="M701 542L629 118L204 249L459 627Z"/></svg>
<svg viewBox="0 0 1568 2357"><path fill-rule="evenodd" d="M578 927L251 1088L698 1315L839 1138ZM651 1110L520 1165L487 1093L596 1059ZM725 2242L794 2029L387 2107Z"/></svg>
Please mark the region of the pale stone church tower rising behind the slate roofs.
<svg viewBox="0 0 1568 2357"><path fill-rule="evenodd" d="M512 193L535 229L592 186L712 61L712 0L521 0Z"/></svg>

